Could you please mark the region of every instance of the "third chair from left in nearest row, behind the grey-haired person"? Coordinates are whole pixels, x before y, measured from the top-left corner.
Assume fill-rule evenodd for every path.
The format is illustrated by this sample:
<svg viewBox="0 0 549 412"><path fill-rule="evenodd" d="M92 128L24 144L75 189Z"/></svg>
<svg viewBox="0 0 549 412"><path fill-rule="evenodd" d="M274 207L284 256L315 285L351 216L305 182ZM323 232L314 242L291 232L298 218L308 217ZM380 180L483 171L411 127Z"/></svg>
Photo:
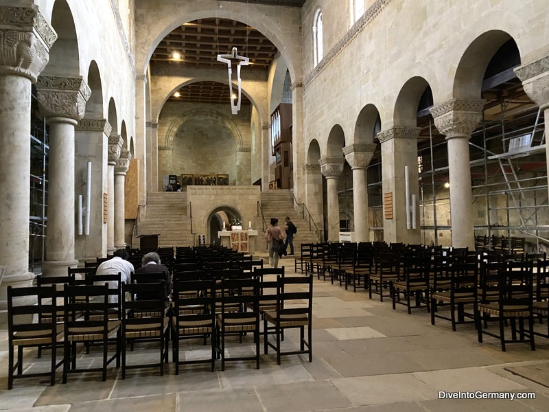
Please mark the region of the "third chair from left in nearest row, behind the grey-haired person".
<svg viewBox="0 0 549 412"><path fill-rule="evenodd" d="M126 379L126 369L138 367L159 367L160 375L164 375L164 362L168 361L168 342L170 341L168 336L170 318L166 317L165 312L165 290L163 279L160 282L122 285L122 379ZM147 299L134 299L135 296ZM135 339L159 339L160 362L127 365L126 342Z"/></svg>

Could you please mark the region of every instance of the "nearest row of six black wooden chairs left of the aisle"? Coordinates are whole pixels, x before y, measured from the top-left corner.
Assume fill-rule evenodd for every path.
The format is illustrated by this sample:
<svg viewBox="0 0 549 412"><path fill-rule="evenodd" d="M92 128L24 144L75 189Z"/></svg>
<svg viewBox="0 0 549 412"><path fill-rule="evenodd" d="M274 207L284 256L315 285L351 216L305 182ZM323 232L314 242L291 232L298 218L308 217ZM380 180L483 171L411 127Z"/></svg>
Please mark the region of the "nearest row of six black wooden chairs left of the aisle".
<svg viewBox="0 0 549 412"><path fill-rule="evenodd" d="M276 280L268 277L276 277ZM120 276L118 275L118 281ZM211 362L220 358L222 370L227 361L254 360L259 368L259 319L264 318L264 352L268 347L277 352L277 362L287 354L308 354L312 361L312 278L285 277L283 268L256 268L253 273L233 278L204 278L174 282L174 301L165 306L163 281L124 284L120 289L108 285L95 286L67 277L60 289L53 282L33 288L8 288L9 365L8 388L15 378L27 376L50 377L54 385L56 369L63 365L62 381L72 372L102 371L106 380L107 366L113 361L121 365L122 378L129 367L159 367L168 361L168 342L172 339L172 358L176 374L179 365ZM86 284L87 283L87 284ZM136 299L139 295L147 299ZM117 296L118 299L112 299ZM156 297L156 298L155 298ZM117 300L113 303L113 300ZM294 303L299 302L299 305ZM303 306L303 302L306 303ZM116 310L115 309L116 306ZM36 321L38 319L38 321ZM304 328L308 328L307 338ZM281 336L286 328L300 328L300 349L283 352ZM226 336L252 333L255 342L253 356L225 356ZM274 342L269 336L276 336ZM205 360L180 361L180 339L200 337L211 341L211 357ZM159 363L148 365L126 364L127 343L138 339L158 339ZM103 348L102 367L78 369L77 344L100 343ZM115 354L108 356L108 344L115 345ZM45 374L23 375L23 348L51 347L51 368ZM57 347L63 347L61 361L56 358ZM17 347L17 359L14 350Z"/></svg>

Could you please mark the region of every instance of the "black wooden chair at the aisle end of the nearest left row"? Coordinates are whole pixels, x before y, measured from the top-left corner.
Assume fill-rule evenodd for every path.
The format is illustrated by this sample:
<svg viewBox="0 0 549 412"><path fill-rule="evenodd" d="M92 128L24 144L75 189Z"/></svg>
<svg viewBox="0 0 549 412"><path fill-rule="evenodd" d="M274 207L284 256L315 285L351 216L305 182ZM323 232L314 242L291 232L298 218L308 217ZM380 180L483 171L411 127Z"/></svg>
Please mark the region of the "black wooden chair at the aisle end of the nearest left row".
<svg viewBox="0 0 549 412"><path fill-rule="evenodd" d="M312 295L313 277L277 277L277 308L264 313L264 352L268 354L271 347L277 352L277 364L281 363L281 356L307 354L312 362ZM305 339L305 327L307 338ZM290 328L299 328L299 350L281 348L283 331ZM274 333L273 333L274 332ZM276 342L272 343L268 337L274 334ZM306 348L305 348L306 347Z"/></svg>

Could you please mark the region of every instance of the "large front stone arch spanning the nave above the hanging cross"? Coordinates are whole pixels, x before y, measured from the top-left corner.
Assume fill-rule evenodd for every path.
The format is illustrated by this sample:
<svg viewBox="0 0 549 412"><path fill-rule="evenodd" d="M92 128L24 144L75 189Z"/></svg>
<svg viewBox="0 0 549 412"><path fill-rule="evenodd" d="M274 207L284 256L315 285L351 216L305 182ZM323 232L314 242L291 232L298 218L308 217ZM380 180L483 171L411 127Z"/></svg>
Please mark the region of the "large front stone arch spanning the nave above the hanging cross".
<svg viewBox="0 0 549 412"><path fill-rule="evenodd" d="M203 0L201 3L200 10L197 10L193 2L180 5L177 8L172 8L170 4L166 3L163 6L156 6L155 13L147 13L148 10L137 10L137 13L141 13L141 24L147 27L147 30L136 30L137 34L146 33L147 36L139 39L139 47L136 47L139 50L136 56L139 74L146 73L154 49L178 25L198 19L219 17L240 21L264 34L288 63L292 82L298 78L301 79L301 47L298 46L299 41L296 41L298 38L301 39L301 32L292 30L292 26L289 24L283 24L283 22L293 20L292 10L288 10L288 19L274 19L265 13L265 5L250 3L244 10L244 5L239 3L227 2L220 5L216 0ZM154 19L154 24L147 19L149 16L150 19Z"/></svg>

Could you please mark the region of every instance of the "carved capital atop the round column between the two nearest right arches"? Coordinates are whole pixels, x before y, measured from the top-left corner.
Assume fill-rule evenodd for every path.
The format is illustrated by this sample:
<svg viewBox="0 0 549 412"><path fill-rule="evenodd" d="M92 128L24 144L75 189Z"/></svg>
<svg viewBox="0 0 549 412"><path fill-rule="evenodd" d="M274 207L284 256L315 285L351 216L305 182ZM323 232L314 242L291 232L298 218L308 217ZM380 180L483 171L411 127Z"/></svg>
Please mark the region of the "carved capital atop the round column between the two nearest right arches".
<svg viewBox="0 0 549 412"><path fill-rule="evenodd" d="M448 100L434 106L430 112L434 125L446 139L471 137L471 133L482 119L482 110L486 100Z"/></svg>

